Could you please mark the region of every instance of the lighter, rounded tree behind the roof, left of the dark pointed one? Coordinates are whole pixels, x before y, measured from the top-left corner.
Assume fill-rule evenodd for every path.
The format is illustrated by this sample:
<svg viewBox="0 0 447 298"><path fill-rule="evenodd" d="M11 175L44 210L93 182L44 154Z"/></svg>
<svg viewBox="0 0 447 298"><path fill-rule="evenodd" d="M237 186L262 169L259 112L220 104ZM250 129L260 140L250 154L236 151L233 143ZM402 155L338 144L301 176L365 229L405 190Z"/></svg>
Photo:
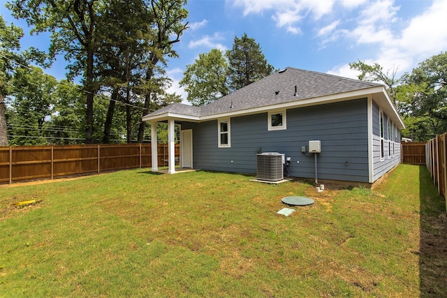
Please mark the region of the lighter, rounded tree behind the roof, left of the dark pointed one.
<svg viewBox="0 0 447 298"><path fill-rule="evenodd" d="M228 94L227 72L228 61L220 50L212 49L199 54L194 64L186 66L179 84L185 87L189 102L197 106L206 105Z"/></svg>

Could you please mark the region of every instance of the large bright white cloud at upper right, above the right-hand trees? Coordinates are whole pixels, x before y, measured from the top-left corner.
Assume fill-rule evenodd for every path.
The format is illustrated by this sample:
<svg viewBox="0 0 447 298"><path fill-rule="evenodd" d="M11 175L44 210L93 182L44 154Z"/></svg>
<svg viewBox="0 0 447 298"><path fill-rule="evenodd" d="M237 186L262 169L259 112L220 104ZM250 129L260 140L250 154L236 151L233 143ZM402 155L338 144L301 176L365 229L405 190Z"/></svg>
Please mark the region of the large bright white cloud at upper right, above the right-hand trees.
<svg viewBox="0 0 447 298"><path fill-rule="evenodd" d="M397 22L400 8L393 1L376 1L376 6L363 9L357 27L344 31L346 38L356 45L371 45L376 50L370 63L376 62L383 70L398 68L397 76L411 71L417 63L447 49L447 31L444 28L447 1L434 0L419 15ZM406 27L402 28L402 24ZM358 57L356 57L358 58ZM351 77L349 65L332 68L329 73Z"/></svg>

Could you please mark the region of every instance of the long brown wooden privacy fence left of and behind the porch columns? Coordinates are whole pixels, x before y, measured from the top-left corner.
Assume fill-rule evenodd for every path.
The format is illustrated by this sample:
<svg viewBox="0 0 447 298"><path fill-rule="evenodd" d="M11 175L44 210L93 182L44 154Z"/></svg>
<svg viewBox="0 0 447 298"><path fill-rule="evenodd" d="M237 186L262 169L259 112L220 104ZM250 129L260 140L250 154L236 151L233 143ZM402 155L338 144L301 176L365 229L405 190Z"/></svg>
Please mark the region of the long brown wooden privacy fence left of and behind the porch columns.
<svg viewBox="0 0 447 298"><path fill-rule="evenodd" d="M159 165L167 165L168 145L157 151ZM175 144L176 158L179 151ZM151 166L151 144L0 147L0 183Z"/></svg>

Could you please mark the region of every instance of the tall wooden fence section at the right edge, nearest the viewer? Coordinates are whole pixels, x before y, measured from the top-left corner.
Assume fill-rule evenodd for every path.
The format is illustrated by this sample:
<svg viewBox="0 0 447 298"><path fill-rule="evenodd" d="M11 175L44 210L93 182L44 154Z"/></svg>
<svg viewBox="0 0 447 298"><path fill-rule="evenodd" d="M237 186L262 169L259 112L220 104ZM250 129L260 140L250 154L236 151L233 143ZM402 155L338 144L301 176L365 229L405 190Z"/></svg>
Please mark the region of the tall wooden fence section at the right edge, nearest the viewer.
<svg viewBox="0 0 447 298"><path fill-rule="evenodd" d="M438 135L425 144L425 165L432 175L433 182L438 186L439 194L446 198L447 173L446 151L447 133ZM446 200L447 209L447 200Z"/></svg>

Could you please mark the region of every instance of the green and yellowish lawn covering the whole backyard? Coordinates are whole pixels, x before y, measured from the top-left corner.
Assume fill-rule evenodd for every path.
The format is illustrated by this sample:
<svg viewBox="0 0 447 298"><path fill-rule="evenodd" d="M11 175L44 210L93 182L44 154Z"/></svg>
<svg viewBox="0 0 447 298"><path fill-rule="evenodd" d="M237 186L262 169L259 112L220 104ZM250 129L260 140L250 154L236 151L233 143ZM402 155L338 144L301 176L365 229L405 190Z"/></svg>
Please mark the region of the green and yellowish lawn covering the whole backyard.
<svg viewBox="0 0 447 298"><path fill-rule="evenodd" d="M424 167L374 191L249 179L128 170L2 187L0 297L447 295L447 246L427 242L446 237L444 199ZM289 195L315 204L280 216Z"/></svg>

